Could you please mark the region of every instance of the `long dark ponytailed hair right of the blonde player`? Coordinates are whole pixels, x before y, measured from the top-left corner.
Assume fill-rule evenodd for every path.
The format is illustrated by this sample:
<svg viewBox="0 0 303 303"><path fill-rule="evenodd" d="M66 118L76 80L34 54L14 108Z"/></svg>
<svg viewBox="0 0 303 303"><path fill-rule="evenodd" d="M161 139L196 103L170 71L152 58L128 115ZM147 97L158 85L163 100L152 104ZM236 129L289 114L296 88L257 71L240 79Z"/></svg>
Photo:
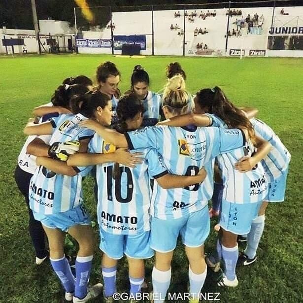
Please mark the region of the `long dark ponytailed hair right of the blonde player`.
<svg viewBox="0 0 303 303"><path fill-rule="evenodd" d="M198 104L207 112L215 114L222 119L229 128L245 128L252 141L255 141L255 132L252 124L244 113L238 109L231 101L227 99L220 87L215 86L213 89L205 88L197 93Z"/></svg>

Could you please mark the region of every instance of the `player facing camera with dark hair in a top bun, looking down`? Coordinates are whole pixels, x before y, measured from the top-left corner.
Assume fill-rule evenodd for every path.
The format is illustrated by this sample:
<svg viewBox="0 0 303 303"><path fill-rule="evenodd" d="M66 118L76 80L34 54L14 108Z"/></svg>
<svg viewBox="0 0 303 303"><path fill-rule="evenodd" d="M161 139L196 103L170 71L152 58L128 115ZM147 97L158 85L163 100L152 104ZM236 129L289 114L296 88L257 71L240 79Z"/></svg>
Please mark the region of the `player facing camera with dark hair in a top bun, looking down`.
<svg viewBox="0 0 303 303"><path fill-rule="evenodd" d="M134 67L131 77L131 91L143 103L143 124L142 126L153 126L159 121L161 109L161 96L149 91L148 73L140 65Z"/></svg>

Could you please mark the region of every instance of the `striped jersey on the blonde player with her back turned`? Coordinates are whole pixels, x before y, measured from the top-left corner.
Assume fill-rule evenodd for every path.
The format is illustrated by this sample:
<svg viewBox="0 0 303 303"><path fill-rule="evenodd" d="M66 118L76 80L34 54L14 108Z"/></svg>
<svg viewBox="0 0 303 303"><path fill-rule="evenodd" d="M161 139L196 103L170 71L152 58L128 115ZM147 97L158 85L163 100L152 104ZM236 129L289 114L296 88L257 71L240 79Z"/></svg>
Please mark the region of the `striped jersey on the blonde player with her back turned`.
<svg viewBox="0 0 303 303"><path fill-rule="evenodd" d="M167 190L154 183L151 214L160 219L180 218L207 205L213 192L212 159L245 143L240 130L216 127L145 127L125 136L130 149L156 148L169 173L195 175L203 166L207 171L203 186Z"/></svg>

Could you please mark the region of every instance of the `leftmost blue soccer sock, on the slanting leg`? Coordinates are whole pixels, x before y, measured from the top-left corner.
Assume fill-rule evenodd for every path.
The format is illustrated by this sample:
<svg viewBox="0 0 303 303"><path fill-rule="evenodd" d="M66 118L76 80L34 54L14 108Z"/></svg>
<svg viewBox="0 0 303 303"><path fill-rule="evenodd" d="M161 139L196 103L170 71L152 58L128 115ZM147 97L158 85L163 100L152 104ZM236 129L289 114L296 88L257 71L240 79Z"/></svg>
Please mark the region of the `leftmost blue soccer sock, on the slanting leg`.
<svg viewBox="0 0 303 303"><path fill-rule="evenodd" d="M73 293L75 289L75 280L71 273L67 258L63 257L61 259L50 259L50 261L65 291L67 293Z"/></svg>

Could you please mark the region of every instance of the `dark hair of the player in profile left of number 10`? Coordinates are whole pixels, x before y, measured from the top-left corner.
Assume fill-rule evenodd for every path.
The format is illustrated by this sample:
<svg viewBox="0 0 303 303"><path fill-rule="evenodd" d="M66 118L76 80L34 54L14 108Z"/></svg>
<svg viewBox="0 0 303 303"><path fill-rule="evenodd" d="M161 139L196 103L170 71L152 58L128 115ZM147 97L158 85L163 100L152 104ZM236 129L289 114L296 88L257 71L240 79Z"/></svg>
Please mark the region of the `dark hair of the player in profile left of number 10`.
<svg viewBox="0 0 303 303"><path fill-rule="evenodd" d="M76 95L71 99L71 109L74 114L80 113L87 118L93 118L97 107L104 108L110 98L100 91Z"/></svg>

